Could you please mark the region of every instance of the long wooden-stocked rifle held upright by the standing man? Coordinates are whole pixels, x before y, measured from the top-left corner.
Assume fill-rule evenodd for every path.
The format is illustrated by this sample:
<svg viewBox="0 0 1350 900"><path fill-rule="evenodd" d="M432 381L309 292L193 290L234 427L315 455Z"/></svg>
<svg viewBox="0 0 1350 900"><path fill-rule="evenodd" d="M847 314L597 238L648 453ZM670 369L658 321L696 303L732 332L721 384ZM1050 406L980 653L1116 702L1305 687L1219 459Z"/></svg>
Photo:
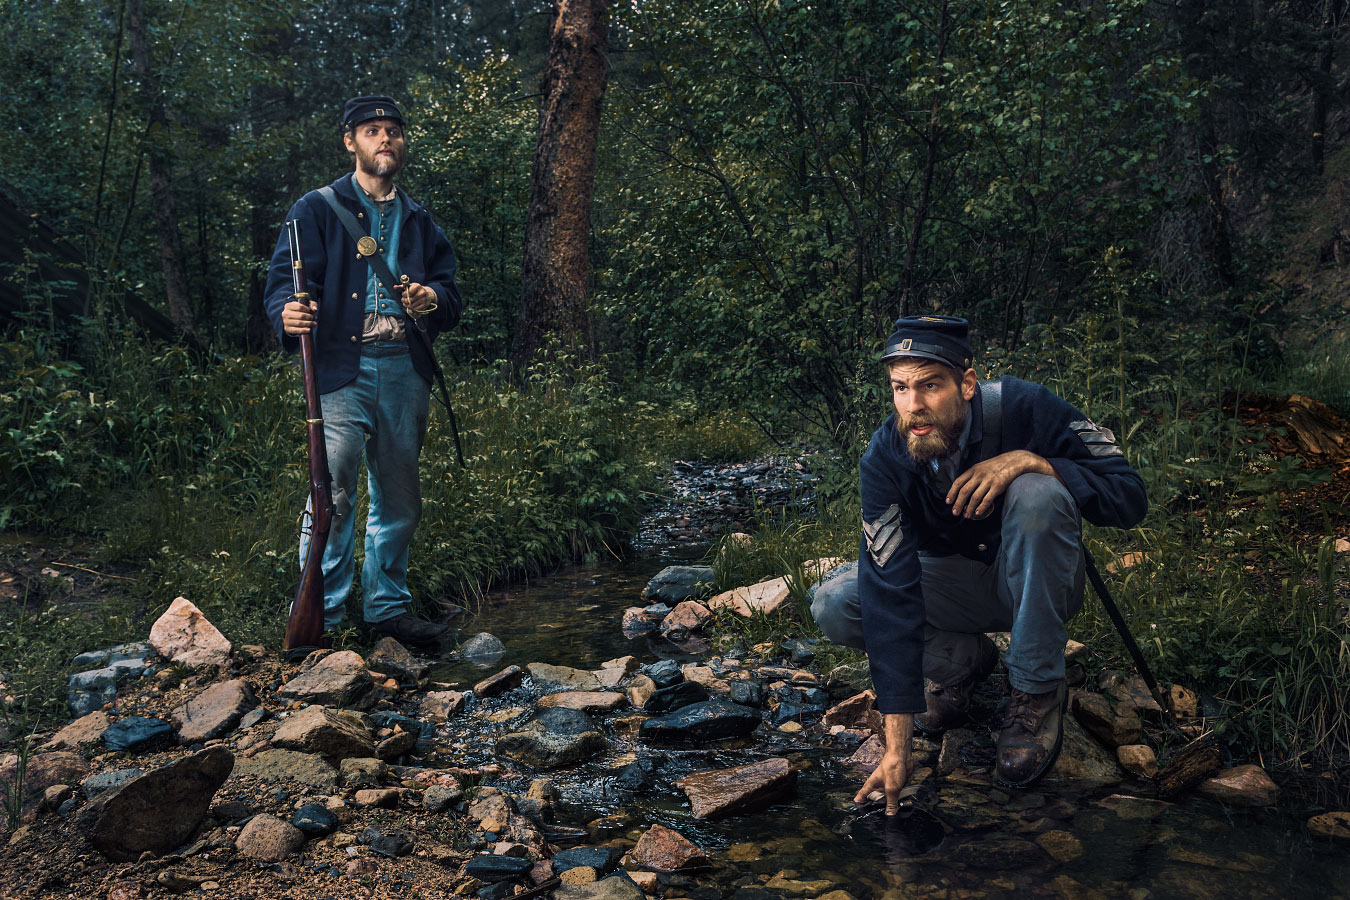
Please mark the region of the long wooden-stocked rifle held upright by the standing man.
<svg viewBox="0 0 1350 900"><path fill-rule="evenodd" d="M300 221L286 223L290 243L290 278L296 300L309 301L305 262L300 251ZM305 379L305 424L309 428L309 546L300 571L296 599L286 622L284 658L294 663L317 650L324 636L324 549L333 518L332 476L328 474L328 449L324 445L324 414L319 406L319 382L315 378L315 339L310 332L300 336L300 371Z"/></svg>

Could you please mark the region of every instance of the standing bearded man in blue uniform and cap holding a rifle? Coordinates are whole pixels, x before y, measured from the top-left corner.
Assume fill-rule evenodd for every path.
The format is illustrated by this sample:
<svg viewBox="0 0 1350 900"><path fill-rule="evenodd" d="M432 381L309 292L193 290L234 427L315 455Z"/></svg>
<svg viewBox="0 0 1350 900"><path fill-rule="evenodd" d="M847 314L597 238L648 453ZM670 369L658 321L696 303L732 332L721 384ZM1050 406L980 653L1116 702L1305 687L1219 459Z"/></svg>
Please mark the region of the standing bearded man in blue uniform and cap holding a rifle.
<svg viewBox="0 0 1350 900"><path fill-rule="evenodd" d="M362 453L370 483L360 588L377 634L433 645L444 625L410 610L408 545L421 517L417 456L436 362L431 341L459 321L455 251L431 213L394 186L404 167L404 116L389 97L354 97L343 142L355 171L292 208L304 242L308 302L294 298L282 235L266 306L282 345L315 329L333 519L323 557L324 629L342 622L354 576L352 513ZM420 335L417 332L421 332ZM301 564L308 534L301 534Z"/></svg>

